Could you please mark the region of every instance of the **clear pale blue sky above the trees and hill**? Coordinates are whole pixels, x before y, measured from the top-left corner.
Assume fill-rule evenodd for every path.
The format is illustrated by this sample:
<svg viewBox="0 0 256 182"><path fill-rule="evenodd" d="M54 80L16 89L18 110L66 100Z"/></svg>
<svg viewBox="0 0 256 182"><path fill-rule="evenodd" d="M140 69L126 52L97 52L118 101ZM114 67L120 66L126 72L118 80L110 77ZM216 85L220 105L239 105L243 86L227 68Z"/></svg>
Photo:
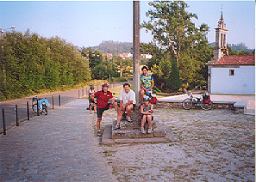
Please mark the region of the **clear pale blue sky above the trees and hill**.
<svg viewBox="0 0 256 182"><path fill-rule="evenodd" d="M186 11L197 14L192 19L199 27L210 29L209 42L215 42L215 27L223 12L228 29L228 44L243 42L255 48L255 2L250 1L185 1ZM148 1L140 1L140 23L148 21ZM15 26L43 37L58 36L79 47L99 45L104 40L133 41L133 2L127 1L1 1L0 28ZM11 31L9 29L4 30ZM152 41L151 33L140 30L140 42Z"/></svg>

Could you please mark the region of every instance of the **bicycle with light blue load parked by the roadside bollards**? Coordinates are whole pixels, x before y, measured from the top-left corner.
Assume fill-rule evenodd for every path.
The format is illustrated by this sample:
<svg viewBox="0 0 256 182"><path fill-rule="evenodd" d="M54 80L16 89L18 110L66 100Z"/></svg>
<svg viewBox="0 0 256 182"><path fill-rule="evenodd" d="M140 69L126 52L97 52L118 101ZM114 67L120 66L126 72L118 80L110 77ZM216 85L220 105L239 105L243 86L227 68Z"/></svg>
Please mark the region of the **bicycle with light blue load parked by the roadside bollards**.
<svg viewBox="0 0 256 182"><path fill-rule="evenodd" d="M49 105L49 102L48 100L45 98L45 99L40 99L40 98L37 98L37 95L35 95L32 99L32 110L35 112L35 113L44 113L45 115L48 114L48 106ZM38 106L37 106L38 104Z"/></svg>

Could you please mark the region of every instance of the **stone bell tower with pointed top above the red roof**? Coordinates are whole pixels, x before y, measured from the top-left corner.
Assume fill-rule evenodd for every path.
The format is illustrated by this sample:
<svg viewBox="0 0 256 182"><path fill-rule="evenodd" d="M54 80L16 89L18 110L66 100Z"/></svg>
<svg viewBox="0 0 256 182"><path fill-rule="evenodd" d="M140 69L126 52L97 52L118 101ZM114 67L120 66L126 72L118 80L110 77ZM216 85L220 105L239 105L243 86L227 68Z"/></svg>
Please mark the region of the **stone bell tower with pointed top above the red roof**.
<svg viewBox="0 0 256 182"><path fill-rule="evenodd" d="M218 27L215 28L215 62L219 61L223 56L228 55L227 31L223 13L221 12L221 19L218 21Z"/></svg>

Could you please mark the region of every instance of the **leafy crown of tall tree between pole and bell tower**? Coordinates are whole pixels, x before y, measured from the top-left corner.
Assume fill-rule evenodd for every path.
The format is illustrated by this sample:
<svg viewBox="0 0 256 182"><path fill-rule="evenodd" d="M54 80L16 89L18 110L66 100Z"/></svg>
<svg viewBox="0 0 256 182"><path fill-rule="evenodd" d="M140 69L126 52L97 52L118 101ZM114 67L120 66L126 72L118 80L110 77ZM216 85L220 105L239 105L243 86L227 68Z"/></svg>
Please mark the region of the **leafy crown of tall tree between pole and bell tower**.
<svg viewBox="0 0 256 182"><path fill-rule="evenodd" d="M199 29L195 27L191 19L197 19L197 15L186 12L188 5L183 1L154 1L148 4L153 6L154 10L147 11L146 15L150 21L144 21L142 27L152 31L153 39L162 48L169 50L177 63L180 54L187 47L192 48L200 41L202 37L198 34L207 33L209 30L205 24Z"/></svg>

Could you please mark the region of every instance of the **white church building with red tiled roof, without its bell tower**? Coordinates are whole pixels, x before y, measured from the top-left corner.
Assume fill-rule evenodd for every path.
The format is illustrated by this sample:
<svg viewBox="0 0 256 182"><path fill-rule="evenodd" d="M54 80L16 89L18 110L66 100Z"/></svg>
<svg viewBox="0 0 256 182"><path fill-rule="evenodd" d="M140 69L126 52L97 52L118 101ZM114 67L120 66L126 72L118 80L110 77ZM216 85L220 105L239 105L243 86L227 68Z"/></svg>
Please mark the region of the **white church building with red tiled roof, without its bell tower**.
<svg viewBox="0 0 256 182"><path fill-rule="evenodd" d="M211 94L255 94L255 56L224 56L211 66Z"/></svg>

